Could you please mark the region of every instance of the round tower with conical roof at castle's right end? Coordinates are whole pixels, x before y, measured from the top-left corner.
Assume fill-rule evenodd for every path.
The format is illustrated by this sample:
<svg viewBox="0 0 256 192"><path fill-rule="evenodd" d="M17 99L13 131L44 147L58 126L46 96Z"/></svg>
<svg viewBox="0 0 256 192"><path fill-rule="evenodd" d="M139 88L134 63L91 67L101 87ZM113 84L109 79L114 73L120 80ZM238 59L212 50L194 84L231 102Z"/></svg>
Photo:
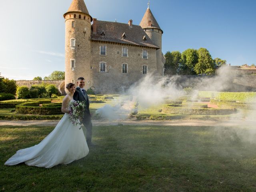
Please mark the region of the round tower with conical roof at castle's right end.
<svg viewBox="0 0 256 192"><path fill-rule="evenodd" d="M145 30L146 34L152 40L152 42L158 46L160 49L156 50L156 69L158 74L164 75L164 62L162 60L162 34L163 31L158 25L156 19L154 18L148 4L148 9L146 10L140 26Z"/></svg>

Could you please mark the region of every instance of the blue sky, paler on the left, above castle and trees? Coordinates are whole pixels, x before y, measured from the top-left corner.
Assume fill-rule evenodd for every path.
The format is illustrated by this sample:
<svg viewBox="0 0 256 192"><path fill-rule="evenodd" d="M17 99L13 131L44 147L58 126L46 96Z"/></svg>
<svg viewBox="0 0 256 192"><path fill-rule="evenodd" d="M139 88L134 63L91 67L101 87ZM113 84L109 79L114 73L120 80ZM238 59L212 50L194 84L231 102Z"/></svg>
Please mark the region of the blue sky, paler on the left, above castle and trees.
<svg viewBox="0 0 256 192"><path fill-rule="evenodd" d="M65 20L72 0L0 0L0 75L14 80L64 71ZM148 0L85 0L92 18L139 25ZM206 48L212 58L256 64L256 0L150 0L162 52Z"/></svg>

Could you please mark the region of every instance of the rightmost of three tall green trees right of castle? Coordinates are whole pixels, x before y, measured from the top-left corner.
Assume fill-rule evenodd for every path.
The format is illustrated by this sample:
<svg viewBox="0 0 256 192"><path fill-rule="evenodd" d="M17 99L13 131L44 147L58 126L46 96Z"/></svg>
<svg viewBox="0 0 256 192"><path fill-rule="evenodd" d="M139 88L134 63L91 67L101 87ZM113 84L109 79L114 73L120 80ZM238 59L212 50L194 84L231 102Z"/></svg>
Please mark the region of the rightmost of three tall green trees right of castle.
<svg viewBox="0 0 256 192"><path fill-rule="evenodd" d="M198 63L194 67L196 74L211 74L214 72L214 62L206 48L198 49Z"/></svg>

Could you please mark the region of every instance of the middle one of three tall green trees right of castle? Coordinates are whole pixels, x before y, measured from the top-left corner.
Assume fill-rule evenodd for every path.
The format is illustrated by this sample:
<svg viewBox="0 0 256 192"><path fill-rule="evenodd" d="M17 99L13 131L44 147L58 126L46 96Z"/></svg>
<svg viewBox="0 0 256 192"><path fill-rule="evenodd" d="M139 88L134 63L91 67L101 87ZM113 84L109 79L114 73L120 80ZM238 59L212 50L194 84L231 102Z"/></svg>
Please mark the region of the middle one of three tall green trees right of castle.
<svg viewBox="0 0 256 192"><path fill-rule="evenodd" d="M193 75L196 74L194 67L198 62L198 51L196 49L187 49L181 54L181 64L178 70L179 74Z"/></svg>

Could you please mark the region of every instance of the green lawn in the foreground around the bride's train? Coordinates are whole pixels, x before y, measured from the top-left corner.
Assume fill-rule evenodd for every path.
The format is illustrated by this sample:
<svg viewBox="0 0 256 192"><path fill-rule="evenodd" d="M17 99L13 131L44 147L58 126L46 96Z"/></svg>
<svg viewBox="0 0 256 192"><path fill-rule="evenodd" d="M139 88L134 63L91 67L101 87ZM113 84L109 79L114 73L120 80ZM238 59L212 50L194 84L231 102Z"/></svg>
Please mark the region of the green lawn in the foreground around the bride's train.
<svg viewBox="0 0 256 192"><path fill-rule="evenodd" d="M51 169L4 166L52 126L0 126L0 190L253 192L256 142L249 128L95 126L88 156ZM243 133L243 136L237 131Z"/></svg>

